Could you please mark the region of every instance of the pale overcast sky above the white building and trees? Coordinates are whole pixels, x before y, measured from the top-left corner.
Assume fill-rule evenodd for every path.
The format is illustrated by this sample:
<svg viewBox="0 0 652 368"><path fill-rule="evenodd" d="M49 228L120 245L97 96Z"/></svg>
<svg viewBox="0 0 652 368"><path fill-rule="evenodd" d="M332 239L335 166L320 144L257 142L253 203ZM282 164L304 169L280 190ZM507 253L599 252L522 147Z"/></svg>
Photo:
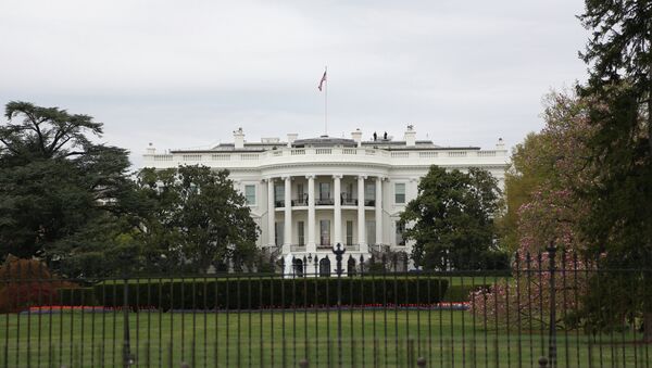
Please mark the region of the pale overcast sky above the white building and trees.
<svg viewBox="0 0 652 368"><path fill-rule="evenodd" d="M507 145L584 79L581 0L0 1L0 104L104 123L138 166L159 150L324 131Z"/></svg>

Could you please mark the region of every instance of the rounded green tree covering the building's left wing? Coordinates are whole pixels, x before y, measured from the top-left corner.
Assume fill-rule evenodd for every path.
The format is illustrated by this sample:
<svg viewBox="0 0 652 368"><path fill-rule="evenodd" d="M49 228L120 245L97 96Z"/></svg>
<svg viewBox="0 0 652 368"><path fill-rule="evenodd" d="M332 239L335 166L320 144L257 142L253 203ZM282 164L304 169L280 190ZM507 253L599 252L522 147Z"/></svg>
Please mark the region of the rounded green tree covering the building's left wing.
<svg viewBox="0 0 652 368"><path fill-rule="evenodd" d="M256 259L259 229L244 196L227 170L205 166L140 172L138 186L154 203L143 220L146 264L159 269L189 266L195 271L236 269ZM163 257L162 257L163 256Z"/></svg>

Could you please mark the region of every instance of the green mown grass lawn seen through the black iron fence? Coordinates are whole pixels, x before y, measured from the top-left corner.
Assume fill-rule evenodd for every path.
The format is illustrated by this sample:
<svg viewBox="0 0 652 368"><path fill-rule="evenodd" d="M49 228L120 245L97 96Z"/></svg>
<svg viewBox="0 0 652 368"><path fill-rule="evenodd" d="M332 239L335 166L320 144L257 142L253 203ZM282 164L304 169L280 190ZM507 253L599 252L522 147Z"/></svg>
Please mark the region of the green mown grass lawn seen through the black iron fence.
<svg viewBox="0 0 652 368"><path fill-rule="evenodd" d="M469 312L342 310L338 313L129 313L138 367L408 367L417 356L429 367L536 366L547 332L497 332ZM0 367L121 366L124 315L0 315ZM589 339L559 331L560 366L645 367L651 346L631 332ZM115 337L115 339L114 339ZM338 346L341 345L341 348ZM589 361L591 364L589 364Z"/></svg>

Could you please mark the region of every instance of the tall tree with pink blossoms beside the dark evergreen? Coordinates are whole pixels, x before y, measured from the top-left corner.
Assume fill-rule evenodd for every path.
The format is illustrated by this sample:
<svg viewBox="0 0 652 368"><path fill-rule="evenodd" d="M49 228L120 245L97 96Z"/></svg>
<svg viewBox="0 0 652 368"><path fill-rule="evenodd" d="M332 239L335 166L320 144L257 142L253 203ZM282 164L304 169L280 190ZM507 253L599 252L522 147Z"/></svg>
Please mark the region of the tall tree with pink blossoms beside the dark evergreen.
<svg viewBox="0 0 652 368"><path fill-rule="evenodd" d="M516 149L509 173L512 182L529 182L527 195L515 212L514 278L471 295L472 313L518 328L544 327L550 321L553 296L557 309L563 310L556 316L557 326L575 325L581 303L578 295L584 294L592 274L588 262L577 253L567 253L586 248L580 218L589 204L576 188L592 169L584 155L585 140L591 135L587 100L572 93L551 93L543 117L546 127ZM552 264L547 250L550 244L564 249ZM554 288L551 267L559 278Z"/></svg>

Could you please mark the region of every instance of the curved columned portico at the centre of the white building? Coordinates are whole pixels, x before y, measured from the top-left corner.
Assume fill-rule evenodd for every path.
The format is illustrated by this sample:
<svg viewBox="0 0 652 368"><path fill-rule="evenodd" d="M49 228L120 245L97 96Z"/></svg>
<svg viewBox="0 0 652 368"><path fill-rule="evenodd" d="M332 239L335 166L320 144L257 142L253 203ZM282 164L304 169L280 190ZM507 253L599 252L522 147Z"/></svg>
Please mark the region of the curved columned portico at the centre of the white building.
<svg viewBox="0 0 652 368"><path fill-rule="evenodd" d="M265 181L267 212L273 214L267 217L267 244L283 246L284 254L329 252L338 243L350 253L366 254L369 221L374 244L383 243L377 226L383 216L383 176L284 175ZM279 229L283 236L276 233Z"/></svg>

